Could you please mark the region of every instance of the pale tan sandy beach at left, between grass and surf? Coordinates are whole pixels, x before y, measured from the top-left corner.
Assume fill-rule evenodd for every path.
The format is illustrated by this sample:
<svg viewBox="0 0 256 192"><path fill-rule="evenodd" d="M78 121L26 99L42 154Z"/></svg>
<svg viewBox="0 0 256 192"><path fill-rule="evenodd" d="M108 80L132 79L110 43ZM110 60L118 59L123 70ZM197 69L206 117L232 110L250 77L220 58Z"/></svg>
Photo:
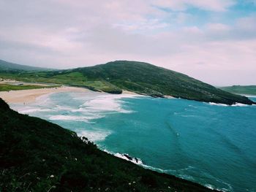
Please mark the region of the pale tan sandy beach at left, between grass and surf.
<svg viewBox="0 0 256 192"><path fill-rule="evenodd" d="M1 91L0 97L4 99L7 103L30 103L36 101L37 97L48 94L48 93L59 93L59 92L69 92L69 91L79 91L87 92L86 88L75 88L69 86L61 86L59 88L38 88L38 89L28 89L19 91Z"/></svg>

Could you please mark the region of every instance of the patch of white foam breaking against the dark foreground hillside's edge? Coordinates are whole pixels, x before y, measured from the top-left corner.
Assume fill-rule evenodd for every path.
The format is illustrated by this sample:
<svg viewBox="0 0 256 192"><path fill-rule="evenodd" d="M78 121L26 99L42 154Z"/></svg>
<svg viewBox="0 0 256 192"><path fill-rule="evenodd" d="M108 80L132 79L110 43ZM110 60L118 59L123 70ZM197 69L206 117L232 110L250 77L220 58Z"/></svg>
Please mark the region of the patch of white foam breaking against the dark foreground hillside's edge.
<svg viewBox="0 0 256 192"><path fill-rule="evenodd" d="M77 134L79 137L86 137L89 139L89 141L97 142L102 141L106 137L108 137L111 134L111 131L105 131L105 130L83 130L83 131L77 131Z"/></svg>

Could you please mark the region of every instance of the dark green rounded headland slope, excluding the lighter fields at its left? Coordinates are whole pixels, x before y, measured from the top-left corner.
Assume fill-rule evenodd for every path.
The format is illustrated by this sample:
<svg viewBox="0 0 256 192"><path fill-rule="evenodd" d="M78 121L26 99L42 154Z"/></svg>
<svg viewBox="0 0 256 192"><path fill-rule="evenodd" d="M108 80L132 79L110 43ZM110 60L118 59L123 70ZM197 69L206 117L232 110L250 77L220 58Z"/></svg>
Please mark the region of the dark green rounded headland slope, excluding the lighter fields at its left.
<svg viewBox="0 0 256 192"><path fill-rule="evenodd" d="M185 74L136 61L114 61L108 64L73 69L87 80L102 80L118 88L151 96L170 95L224 104L253 102L244 96L227 93Z"/></svg>

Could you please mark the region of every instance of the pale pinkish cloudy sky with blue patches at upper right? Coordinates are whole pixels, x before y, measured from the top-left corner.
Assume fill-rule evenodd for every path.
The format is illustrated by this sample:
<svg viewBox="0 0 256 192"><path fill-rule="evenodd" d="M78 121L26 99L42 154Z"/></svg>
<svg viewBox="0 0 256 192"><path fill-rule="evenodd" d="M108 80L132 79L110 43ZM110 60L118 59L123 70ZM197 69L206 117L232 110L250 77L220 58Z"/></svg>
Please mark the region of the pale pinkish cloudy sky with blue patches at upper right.
<svg viewBox="0 0 256 192"><path fill-rule="evenodd" d="M0 0L0 59L69 69L144 61L256 85L256 0Z"/></svg>

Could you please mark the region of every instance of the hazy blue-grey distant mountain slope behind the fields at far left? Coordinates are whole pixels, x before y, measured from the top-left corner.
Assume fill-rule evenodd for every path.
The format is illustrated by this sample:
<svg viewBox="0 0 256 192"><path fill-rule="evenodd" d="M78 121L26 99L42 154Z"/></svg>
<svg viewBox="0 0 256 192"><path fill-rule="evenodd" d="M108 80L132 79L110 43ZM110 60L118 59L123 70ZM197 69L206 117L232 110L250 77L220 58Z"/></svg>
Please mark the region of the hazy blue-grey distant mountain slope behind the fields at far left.
<svg viewBox="0 0 256 192"><path fill-rule="evenodd" d="M49 69L35 67L35 66L12 64L10 62L0 60L0 71L10 72L10 71L20 71L20 70L21 71L45 71Z"/></svg>

